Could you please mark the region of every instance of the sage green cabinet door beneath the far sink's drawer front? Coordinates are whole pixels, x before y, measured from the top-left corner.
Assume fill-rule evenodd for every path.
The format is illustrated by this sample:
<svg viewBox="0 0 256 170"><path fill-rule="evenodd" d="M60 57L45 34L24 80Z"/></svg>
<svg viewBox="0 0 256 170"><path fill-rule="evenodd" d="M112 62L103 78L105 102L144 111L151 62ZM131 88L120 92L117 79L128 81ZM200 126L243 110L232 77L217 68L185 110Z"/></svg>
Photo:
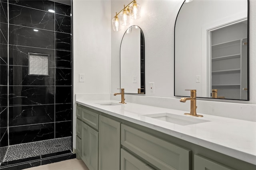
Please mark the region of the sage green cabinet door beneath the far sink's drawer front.
<svg viewBox="0 0 256 170"><path fill-rule="evenodd" d="M82 123L81 158L90 170L98 170L98 132Z"/></svg>

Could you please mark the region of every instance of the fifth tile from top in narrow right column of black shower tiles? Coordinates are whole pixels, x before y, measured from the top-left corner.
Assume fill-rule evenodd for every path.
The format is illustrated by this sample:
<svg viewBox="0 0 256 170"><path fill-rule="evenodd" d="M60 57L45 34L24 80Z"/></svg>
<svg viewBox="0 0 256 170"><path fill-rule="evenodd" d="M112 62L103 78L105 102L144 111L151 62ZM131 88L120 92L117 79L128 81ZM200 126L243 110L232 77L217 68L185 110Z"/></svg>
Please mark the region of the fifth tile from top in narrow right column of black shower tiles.
<svg viewBox="0 0 256 170"><path fill-rule="evenodd" d="M68 86L72 84L72 69L56 68L56 86Z"/></svg>

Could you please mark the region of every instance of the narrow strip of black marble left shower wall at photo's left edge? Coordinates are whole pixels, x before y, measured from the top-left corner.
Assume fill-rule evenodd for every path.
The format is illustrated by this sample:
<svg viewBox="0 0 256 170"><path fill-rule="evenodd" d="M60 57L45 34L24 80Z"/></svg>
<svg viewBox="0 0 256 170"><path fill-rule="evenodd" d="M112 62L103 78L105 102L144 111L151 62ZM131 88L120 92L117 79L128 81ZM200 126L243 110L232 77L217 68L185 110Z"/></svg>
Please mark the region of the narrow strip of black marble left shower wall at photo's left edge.
<svg viewBox="0 0 256 170"><path fill-rule="evenodd" d="M7 5L0 0L0 162L8 148L8 28ZM4 24L3 24L4 23Z"/></svg>

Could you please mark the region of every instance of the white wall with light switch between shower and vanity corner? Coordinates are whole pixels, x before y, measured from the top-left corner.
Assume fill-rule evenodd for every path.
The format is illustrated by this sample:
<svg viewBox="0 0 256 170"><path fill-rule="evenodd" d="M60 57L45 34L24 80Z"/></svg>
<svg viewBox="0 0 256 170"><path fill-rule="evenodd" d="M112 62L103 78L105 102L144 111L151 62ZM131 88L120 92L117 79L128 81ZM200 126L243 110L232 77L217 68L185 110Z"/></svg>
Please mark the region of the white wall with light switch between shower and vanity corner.
<svg viewBox="0 0 256 170"><path fill-rule="evenodd" d="M74 102L79 93L110 93L110 1L73 0ZM78 74L85 82L78 82ZM76 134L76 105L73 105ZM75 135L73 147L76 148Z"/></svg>

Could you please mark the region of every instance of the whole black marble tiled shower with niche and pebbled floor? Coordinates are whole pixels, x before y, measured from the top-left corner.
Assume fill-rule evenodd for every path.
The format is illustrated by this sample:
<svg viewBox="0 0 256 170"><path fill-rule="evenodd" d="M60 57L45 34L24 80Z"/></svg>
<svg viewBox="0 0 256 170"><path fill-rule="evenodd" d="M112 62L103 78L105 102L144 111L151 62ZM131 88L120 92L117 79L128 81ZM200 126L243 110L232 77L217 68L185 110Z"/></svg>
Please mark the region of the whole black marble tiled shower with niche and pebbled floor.
<svg viewBox="0 0 256 170"><path fill-rule="evenodd" d="M50 0L0 0L0 169L75 157L71 13Z"/></svg>

